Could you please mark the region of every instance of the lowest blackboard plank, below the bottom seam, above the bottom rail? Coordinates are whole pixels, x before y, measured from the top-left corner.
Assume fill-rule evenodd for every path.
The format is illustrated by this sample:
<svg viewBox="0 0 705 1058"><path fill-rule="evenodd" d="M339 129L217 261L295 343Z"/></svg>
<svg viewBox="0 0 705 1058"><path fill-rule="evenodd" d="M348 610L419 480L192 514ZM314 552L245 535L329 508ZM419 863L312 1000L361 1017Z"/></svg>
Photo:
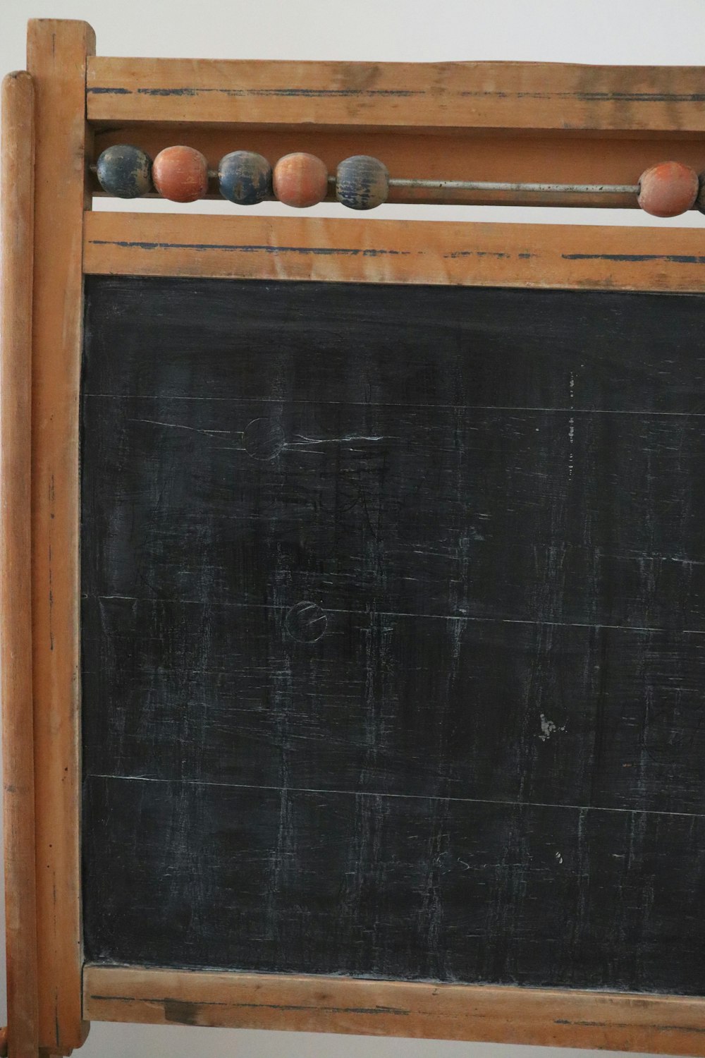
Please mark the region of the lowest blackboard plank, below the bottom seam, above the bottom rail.
<svg viewBox="0 0 705 1058"><path fill-rule="evenodd" d="M90 960L705 988L702 818L104 778L86 810Z"/></svg>

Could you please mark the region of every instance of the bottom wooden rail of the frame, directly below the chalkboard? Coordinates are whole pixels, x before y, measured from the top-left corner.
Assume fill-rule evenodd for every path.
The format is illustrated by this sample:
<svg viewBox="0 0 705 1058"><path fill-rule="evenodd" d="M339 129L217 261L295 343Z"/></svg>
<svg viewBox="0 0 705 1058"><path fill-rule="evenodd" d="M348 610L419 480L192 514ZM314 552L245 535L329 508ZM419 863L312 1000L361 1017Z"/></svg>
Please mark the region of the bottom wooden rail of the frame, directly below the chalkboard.
<svg viewBox="0 0 705 1058"><path fill-rule="evenodd" d="M90 965L84 993L95 1021L705 1055L700 999Z"/></svg>

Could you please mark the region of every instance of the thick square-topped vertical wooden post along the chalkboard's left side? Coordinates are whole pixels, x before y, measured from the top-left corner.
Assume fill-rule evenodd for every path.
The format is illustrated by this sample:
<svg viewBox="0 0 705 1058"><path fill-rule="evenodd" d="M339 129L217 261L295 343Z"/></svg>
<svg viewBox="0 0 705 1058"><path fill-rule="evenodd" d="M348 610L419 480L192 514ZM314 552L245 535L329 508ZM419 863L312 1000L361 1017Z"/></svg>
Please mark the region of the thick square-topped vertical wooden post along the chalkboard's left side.
<svg viewBox="0 0 705 1058"><path fill-rule="evenodd" d="M32 588L39 1045L80 1046L78 391L88 197L86 22L32 20Z"/></svg>

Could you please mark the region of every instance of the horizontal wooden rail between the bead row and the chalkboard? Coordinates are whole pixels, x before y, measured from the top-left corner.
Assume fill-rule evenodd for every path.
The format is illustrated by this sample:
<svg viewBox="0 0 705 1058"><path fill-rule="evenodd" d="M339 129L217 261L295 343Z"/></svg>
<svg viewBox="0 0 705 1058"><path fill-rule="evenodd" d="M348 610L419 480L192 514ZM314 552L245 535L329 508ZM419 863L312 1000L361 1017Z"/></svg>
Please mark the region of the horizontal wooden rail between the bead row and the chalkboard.
<svg viewBox="0 0 705 1058"><path fill-rule="evenodd" d="M91 213L85 231L100 275L705 289L698 229Z"/></svg>

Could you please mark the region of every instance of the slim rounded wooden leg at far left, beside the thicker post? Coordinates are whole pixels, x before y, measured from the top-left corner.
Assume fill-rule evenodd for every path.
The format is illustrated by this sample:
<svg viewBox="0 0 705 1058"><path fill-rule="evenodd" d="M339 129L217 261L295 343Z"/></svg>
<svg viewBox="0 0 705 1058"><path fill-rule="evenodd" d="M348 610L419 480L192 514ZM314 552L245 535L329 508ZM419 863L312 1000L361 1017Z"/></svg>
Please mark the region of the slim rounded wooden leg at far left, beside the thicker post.
<svg viewBox="0 0 705 1058"><path fill-rule="evenodd" d="M13 1058L36 1058L34 725L32 716L32 263L34 86L2 83L2 359L0 591L7 1037Z"/></svg>

